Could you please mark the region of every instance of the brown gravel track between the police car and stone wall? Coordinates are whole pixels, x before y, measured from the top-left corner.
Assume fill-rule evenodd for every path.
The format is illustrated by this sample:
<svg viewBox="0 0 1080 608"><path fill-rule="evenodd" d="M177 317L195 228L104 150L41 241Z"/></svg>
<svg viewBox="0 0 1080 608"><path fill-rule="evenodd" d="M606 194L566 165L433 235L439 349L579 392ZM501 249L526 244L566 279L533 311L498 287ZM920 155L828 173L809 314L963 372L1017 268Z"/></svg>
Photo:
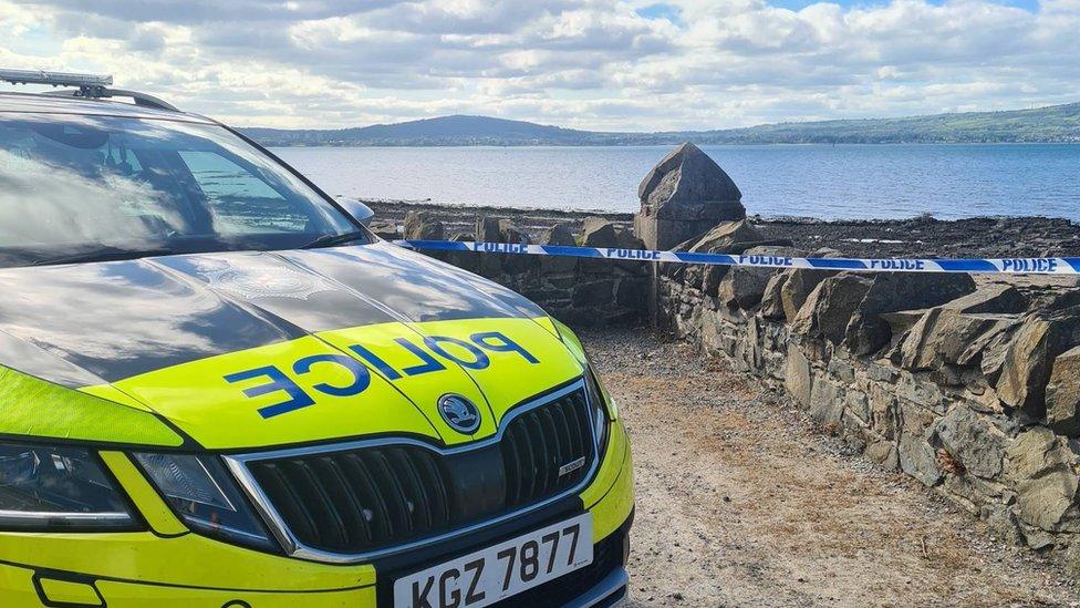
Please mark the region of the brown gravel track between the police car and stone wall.
<svg viewBox="0 0 1080 608"><path fill-rule="evenodd" d="M631 606L1080 606L1053 564L648 330L583 334L634 441Z"/></svg>

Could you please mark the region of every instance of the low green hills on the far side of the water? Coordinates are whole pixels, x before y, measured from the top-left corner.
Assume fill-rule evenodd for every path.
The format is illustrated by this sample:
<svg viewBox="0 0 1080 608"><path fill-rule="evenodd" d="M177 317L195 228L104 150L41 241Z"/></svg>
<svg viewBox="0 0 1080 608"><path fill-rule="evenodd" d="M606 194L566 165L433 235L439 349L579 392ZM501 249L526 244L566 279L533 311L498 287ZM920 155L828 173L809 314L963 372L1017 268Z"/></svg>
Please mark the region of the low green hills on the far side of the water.
<svg viewBox="0 0 1080 608"><path fill-rule="evenodd" d="M720 131L575 131L487 116L443 116L340 130L247 128L268 146L468 146L884 143L1080 143L1080 103L1037 110L966 112L904 118L779 123Z"/></svg>

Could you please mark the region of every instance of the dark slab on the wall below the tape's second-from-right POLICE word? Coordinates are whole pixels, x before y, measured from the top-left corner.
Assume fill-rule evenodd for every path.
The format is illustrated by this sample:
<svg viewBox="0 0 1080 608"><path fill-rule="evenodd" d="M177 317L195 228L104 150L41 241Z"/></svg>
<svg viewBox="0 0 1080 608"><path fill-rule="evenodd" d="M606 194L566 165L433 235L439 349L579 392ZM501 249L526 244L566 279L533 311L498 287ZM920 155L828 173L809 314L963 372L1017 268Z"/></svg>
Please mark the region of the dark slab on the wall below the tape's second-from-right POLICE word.
<svg viewBox="0 0 1080 608"><path fill-rule="evenodd" d="M878 352L892 339L882 313L930 308L975 291L975 281L958 274L879 274L848 324L844 344L853 354Z"/></svg>

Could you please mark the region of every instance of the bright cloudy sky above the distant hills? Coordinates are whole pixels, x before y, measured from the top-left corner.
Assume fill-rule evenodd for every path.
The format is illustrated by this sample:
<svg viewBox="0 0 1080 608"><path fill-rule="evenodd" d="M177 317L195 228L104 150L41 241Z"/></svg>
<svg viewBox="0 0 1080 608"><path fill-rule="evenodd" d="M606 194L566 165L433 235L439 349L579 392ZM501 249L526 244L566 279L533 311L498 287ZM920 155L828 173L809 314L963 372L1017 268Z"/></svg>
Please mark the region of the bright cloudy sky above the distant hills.
<svg viewBox="0 0 1080 608"><path fill-rule="evenodd" d="M0 0L0 65L239 126L726 128L1080 101L1080 0Z"/></svg>

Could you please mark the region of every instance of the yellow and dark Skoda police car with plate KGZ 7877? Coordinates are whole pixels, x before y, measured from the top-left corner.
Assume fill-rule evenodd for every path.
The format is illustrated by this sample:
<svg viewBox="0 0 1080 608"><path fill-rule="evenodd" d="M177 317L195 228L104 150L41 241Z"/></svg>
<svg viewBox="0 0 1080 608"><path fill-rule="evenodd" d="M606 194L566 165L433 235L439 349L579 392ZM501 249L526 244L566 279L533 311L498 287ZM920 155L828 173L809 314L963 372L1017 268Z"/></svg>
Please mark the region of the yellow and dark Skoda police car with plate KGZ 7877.
<svg viewBox="0 0 1080 608"><path fill-rule="evenodd" d="M574 334L110 78L0 93L0 606L611 606ZM115 101L124 99L126 101Z"/></svg>

